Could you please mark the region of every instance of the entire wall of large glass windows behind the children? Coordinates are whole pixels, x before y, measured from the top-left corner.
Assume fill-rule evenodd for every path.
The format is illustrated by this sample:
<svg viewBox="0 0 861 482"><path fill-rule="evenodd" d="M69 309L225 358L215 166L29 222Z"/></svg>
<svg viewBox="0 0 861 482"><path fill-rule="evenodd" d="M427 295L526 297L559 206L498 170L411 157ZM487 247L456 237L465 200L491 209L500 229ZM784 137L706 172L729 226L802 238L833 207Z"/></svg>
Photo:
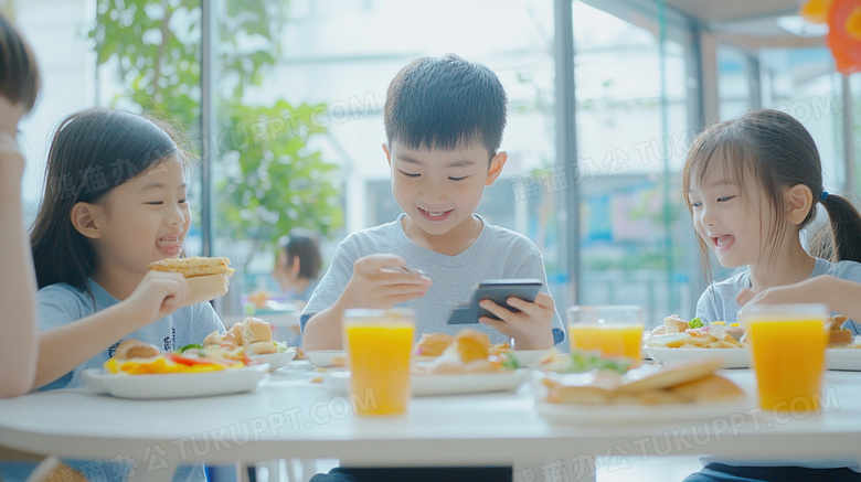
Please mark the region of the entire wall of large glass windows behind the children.
<svg viewBox="0 0 861 482"><path fill-rule="evenodd" d="M858 76L835 74L822 32L799 29L797 18L715 23L666 3L698 13L674 0L576 0L570 19L554 18L559 0L0 2L44 73L22 124L28 217L61 118L92 105L161 108L189 131L210 174L193 179L189 250L234 260L240 272L217 308L240 313L247 293L276 290L280 235L318 232L326 264L348 233L395 218L381 149L386 86L414 58L454 52L496 71L510 99L509 162L478 211L536 243L560 312L636 302L648 324L690 317L708 282L677 179L693 136L751 108L786 110L814 135L826 189L854 192L861 149L848 164L853 137L844 132L858 137L861 87ZM99 22L113 22L108 45L88 36ZM574 32L573 58L560 53L559 24ZM574 75L563 96L560 66ZM556 99L571 95L576 132L556 139L568 119ZM576 147L576 159L562 159L560 146ZM566 212L571 193L576 212ZM712 263L715 278L727 274Z"/></svg>

